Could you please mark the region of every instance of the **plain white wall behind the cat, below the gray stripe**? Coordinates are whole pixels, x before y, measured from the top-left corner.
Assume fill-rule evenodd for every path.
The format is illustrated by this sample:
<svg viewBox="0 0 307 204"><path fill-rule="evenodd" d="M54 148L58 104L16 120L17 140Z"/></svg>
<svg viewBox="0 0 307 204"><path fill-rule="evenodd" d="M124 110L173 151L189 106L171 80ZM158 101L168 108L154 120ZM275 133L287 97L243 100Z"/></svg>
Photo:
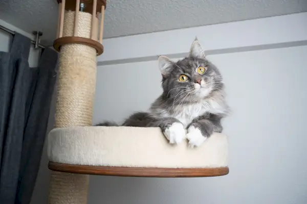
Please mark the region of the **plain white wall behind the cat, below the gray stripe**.
<svg viewBox="0 0 307 204"><path fill-rule="evenodd" d="M307 203L306 56L307 46L208 56L224 75L233 110L224 120L230 173L91 176L89 204ZM160 80L156 61L98 67L94 123L146 110L161 93Z"/></svg>

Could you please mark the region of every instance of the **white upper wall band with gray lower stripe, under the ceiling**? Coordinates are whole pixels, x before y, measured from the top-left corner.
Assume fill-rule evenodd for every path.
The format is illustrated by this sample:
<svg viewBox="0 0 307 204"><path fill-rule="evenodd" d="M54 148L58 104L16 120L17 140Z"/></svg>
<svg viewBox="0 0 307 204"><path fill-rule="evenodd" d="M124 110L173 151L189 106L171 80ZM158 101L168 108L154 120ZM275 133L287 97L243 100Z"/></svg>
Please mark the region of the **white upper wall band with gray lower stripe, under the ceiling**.
<svg viewBox="0 0 307 204"><path fill-rule="evenodd" d="M181 58L198 37L207 55L307 44L307 12L103 40L98 66Z"/></svg>

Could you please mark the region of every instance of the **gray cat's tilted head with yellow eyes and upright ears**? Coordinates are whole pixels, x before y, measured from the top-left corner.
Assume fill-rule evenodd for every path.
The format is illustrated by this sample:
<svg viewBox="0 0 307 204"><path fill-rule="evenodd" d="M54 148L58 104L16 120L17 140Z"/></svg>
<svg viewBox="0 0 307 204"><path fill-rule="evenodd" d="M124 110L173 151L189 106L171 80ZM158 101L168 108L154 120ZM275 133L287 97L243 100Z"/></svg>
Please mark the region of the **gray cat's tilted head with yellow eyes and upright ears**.
<svg viewBox="0 0 307 204"><path fill-rule="evenodd" d="M197 39L193 41L188 57L173 62L160 56L158 62L164 94L175 103L196 101L214 90L223 89L220 71L206 59Z"/></svg>

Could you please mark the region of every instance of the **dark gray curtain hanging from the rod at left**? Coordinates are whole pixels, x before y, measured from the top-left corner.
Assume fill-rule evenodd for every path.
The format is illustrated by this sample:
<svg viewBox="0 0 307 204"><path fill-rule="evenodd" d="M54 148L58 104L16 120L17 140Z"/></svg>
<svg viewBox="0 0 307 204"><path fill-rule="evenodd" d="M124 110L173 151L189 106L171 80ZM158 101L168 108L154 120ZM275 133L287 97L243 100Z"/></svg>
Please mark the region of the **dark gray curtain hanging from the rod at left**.
<svg viewBox="0 0 307 204"><path fill-rule="evenodd" d="M29 67L31 41L16 33L0 52L0 203L30 203L45 142L57 53Z"/></svg>

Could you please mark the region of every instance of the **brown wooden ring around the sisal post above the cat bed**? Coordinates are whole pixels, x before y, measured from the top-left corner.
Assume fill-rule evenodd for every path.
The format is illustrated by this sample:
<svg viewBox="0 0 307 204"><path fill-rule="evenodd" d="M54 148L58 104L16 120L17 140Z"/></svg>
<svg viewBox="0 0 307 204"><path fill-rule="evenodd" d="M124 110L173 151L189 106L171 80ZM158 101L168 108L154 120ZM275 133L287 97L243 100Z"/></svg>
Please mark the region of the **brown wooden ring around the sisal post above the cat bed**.
<svg viewBox="0 0 307 204"><path fill-rule="evenodd" d="M91 47L94 47L97 50L97 56L103 53L103 45L96 40L89 38L76 37L76 36L66 36L58 38L54 41L53 47L57 52L60 52L61 46L64 44L84 44Z"/></svg>

